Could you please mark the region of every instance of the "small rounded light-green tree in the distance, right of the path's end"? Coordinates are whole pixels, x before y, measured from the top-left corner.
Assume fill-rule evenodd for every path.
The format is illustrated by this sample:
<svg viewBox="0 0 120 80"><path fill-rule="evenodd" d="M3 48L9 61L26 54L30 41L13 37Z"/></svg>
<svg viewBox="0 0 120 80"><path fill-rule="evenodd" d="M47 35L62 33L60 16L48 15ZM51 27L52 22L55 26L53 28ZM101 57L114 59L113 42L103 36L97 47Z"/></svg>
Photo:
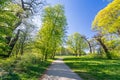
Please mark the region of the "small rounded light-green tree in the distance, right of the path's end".
<svg viewBox="0 0 120 80"><path fill-rule="evenodd" d="M82 52L86 48L86 42L79 33L69 36L67 45L76 56L82 55Z"/></svg>

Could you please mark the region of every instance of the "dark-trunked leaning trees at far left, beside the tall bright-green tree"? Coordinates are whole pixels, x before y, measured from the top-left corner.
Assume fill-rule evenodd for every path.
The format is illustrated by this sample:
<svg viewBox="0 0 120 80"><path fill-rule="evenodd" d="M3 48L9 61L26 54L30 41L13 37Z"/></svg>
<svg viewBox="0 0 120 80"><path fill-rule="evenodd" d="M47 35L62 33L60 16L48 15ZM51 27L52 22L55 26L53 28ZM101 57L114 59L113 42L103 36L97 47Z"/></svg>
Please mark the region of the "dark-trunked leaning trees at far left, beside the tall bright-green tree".
<svg viewBox="0 0 120 80"><path fill-rule="evenodd" d="M30 31L34 24L29 19L36 14L37 6L44 6L37 0L1 0L0 1L0 56L23 54L24 46L29 42Z"/></svg>

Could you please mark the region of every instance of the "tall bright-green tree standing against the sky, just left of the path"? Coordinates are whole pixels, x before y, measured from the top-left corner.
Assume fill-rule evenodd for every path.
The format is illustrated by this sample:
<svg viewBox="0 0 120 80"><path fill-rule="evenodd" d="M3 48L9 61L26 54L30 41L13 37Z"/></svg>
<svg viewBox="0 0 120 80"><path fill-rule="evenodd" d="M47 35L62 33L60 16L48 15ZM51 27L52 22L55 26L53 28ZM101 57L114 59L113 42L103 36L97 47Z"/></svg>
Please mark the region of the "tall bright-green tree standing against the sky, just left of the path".
<svg viewBox="0 0 120 80"><path fill-rule="evenodd" d="M54 58L57 47L62 44L66 33L66 17L62 5L48 6L42 15L42 28L36 40L37 47L47 60L48 56Z"/></svg>

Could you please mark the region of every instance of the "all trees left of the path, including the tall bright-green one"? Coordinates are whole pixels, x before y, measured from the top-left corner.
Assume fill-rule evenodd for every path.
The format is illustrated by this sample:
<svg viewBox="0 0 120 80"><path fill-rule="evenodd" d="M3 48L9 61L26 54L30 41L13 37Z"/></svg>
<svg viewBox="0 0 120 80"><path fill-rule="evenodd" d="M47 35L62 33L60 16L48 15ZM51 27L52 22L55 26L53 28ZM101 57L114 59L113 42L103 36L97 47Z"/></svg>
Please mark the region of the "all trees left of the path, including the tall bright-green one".
<svg viewBox="0 0 120 80"><path fill-rule="evenodd" d="M34 52L41 54L42 60L54 58L64 42L67 21L62 5L46 6L42 11L44 5L44 0L0 1L1 57ZM41 12L42 24L37 30L32 20ZM35 31L37 35L32 33Z"/></svg>

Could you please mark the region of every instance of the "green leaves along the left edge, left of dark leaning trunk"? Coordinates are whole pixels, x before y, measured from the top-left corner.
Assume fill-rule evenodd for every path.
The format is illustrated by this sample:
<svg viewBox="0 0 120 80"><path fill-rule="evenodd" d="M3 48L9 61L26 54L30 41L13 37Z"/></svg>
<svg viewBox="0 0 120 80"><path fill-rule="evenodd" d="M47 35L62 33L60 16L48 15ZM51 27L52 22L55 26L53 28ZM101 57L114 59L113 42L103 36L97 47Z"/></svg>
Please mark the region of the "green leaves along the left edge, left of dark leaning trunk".
<svg viewBox="0 0 120 80"><path fill-rule="evenodd" d="M2 0L3 1L3 0ZM18 14L23 12L22 8L14 3L7 2L0 8L0 54L6 54L9 50L9 40L7 37L12 37L13 31L20 22Z"/></svg>

